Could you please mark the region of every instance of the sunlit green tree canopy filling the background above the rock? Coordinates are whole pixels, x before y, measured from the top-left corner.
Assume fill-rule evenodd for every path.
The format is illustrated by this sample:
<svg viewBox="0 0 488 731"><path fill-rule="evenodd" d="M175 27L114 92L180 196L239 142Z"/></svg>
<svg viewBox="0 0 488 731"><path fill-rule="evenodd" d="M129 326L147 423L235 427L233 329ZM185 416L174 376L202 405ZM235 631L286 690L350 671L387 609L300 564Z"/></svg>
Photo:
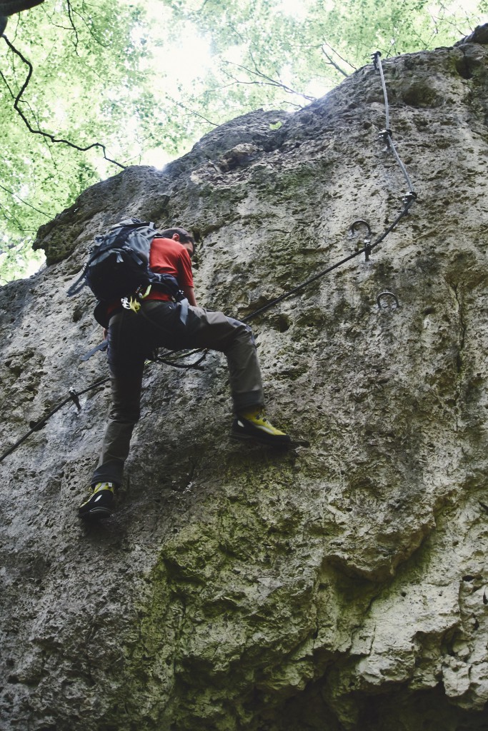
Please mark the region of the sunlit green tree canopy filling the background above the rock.
<svg viewBox="0 0 488 731"><path fill-rule="evenodd" d="M375 50L451 45L486 22L487 0L471 5L45 0L13 16L7 38L33 67L19 110L33 130L99 145L29 131L14 109L29 67L1 39L0 276L25 271L40 224L120 165L169 160L258 107L304 106Z"/></svg>

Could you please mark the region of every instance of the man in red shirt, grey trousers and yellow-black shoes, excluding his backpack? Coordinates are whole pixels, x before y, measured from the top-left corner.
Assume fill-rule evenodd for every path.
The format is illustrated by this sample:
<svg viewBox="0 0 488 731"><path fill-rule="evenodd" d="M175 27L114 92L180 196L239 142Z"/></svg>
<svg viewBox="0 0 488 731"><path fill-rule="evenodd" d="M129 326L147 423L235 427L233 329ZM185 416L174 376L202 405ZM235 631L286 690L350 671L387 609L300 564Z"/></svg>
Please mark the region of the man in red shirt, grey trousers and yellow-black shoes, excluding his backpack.
<svg viewBox="0 0 488 731"><path fill-rule="evenodd" d="M170 295L153 287L137 312L120 303L108 308L112 405L100 460L91 479L91 494L78 508L81 518L108 518L113 512L114 493L121 484L132 430L140 417L144 363L158 347L223 352L236 414L230 436L277 446L290 443L290 437L274 428L263 414L263 386L250 327L222 312L197 306L190 260L194 249L192 235L179 227L158 234L150 249L149 268L175 276L186 299L175 303Z"/></svg>

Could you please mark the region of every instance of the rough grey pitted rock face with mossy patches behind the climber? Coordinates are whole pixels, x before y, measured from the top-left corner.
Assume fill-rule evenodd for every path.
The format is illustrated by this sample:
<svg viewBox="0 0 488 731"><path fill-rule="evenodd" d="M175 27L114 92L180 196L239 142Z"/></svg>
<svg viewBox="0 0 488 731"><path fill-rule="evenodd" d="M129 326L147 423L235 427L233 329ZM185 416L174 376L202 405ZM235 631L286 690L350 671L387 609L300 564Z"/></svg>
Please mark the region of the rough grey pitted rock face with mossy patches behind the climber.
<svg viewBox="0 0 488 731"><path fill-rule="evenodd" d="M1 730L488 728L487 28L388 59L418 198L372 251L255 319L289 452L228 439L225 363L152 365L119 509L83 526L108 409L80 395L4 458ZM225 124L40 230L0 289L2 447L107 376L93 236L127 215L199 240L199 303L245 317L376 240L406 183L380 76ZM382 292L391 292L380 298ZM397 298L397 301L394 299Z"/></svg>

